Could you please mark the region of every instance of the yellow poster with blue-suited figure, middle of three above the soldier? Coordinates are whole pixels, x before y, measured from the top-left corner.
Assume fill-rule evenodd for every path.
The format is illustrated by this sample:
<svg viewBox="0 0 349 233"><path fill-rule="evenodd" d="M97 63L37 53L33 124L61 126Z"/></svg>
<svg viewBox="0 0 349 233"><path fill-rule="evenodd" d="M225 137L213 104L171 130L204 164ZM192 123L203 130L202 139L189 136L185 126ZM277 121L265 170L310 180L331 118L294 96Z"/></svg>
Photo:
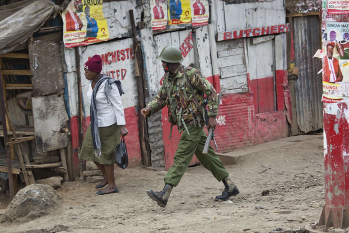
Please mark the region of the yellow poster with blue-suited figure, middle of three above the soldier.
<svg viewBox="0 0 349 233"><path fill-rule="evenodd" d="M190 0L169 0L168 4L169 25L192 22Z"/></svg>

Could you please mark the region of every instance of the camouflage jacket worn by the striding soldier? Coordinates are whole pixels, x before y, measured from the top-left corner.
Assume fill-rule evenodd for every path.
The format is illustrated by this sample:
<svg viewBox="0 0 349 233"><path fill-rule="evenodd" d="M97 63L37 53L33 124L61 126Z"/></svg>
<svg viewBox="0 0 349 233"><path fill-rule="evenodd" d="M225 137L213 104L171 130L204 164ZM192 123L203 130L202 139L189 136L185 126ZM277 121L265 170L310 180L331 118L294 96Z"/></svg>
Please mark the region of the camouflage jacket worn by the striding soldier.
<svg viewBox="0 0 349 233"><path fill-rule="evenodd" d="M167 105L169 122L172 125L177 125L179 132L186 129L187 125L205 125L203 94L208 97L208 116L218 115L218 96L214 87L198 70L186 67L187 77L194 90L192 93L190 84L185 78L184 69L183 65L179 65L173 77L169 73L165 73L162 86L155 99L147 105L150 109L150 115ZM193 94L196 95L200 106L196 103Z"/></svg>

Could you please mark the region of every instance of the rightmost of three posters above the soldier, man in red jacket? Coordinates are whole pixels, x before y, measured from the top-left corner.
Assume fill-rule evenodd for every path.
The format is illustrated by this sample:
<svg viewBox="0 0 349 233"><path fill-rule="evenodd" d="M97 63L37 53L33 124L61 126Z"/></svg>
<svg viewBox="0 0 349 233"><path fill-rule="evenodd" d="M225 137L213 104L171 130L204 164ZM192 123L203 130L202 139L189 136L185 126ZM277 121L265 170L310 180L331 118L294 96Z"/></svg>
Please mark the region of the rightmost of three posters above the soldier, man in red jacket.
<svg viewBox="0 0 349 233"><path fill-rule="evenodd" d="M202 26L208 24L208 0L191 0L192 25Z"/></svg>

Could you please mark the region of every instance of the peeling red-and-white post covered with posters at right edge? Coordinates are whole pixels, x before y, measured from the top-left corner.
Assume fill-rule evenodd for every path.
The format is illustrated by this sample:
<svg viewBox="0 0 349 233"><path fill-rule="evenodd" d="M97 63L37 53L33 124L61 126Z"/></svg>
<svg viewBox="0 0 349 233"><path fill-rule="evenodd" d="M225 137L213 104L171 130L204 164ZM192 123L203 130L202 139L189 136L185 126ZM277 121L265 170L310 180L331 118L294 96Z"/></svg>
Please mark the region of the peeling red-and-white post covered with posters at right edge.
<svg viewBox="0 0 349 233"><path fill-rule="evenodd" d="M344 229L349 226L349 3L322 3L325 205L319 226Z"/></svg>

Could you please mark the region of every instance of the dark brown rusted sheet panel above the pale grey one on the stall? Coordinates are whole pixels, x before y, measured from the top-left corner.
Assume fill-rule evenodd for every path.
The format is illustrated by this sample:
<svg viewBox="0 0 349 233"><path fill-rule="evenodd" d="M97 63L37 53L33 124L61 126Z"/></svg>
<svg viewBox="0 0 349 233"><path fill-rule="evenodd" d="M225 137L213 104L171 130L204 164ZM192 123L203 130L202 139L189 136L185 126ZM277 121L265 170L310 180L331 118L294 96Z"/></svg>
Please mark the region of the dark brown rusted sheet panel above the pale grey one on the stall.
<svg viewBox="0 0 349 233"><path fill-rule="evenodd" d="M33 41L29 44L33 96L49 95L64 89L61 42Z"/></svg>

